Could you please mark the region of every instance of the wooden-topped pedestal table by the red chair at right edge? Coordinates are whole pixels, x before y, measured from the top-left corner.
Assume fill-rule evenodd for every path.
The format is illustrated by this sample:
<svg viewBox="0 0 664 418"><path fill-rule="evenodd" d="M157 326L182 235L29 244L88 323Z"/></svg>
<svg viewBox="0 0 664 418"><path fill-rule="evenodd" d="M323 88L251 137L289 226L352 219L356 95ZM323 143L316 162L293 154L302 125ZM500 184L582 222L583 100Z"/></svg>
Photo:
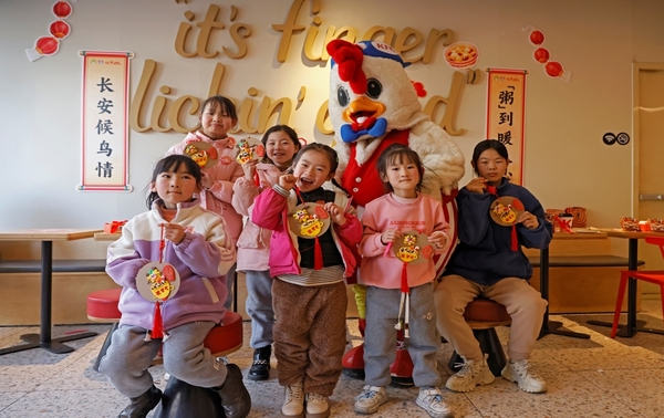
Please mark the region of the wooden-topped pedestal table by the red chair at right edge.
<svg viewBox="0 0 664 418"><path fill-rule="evenodd" d="M664 237L662 232L631 232L623 231L622 229L606 229L606 228L595 228L598 231L605 232L611 238L622 238L630 240L629 242L629 255L627 255L627 269L629 270L637 270L639 268L639 240L644 239L645 237ZM663 334L664 331L645 328L645 321L636 320L636 279L630 278L627 284L627 324L626 325L618 325L618 334L619 336L631 338L639 331L643 331L645 333L653 334ZM604 322L604 321L588 321L589 324L608 326L612 327L613 323Z"/></svg>

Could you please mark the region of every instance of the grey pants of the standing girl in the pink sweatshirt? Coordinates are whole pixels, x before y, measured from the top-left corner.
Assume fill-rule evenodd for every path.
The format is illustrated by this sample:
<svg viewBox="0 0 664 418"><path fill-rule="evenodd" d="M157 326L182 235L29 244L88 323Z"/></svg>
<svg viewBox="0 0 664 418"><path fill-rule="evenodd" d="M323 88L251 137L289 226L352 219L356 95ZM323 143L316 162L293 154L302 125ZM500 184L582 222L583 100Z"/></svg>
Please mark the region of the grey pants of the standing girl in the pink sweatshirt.
<svg viewBox="0 0 664 418"><path fill-rule="evenodd" d="M440 386L436 353L440 338L436 332L433 283L411 288L407 348L413 359L413 383L417 387ZM390 365L396 358L396 330L401 289L366 288L366 328L364 331L364 383L387 386Z"/></svg>

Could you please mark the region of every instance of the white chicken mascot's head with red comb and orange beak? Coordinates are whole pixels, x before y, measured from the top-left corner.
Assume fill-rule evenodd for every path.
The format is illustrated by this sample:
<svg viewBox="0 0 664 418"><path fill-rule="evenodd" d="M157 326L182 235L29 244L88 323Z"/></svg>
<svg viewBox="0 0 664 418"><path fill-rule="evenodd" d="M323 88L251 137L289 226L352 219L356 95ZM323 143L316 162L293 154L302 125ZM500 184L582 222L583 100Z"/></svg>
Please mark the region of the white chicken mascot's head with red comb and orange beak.
<svg viewBox="0 0 664 418"><path fill-rule="evenodd" d="M407 129L426 117L418 92L404 67L409 65L382 42L328 44L332 58L330 119L336 137L349 144Z"/></svg>

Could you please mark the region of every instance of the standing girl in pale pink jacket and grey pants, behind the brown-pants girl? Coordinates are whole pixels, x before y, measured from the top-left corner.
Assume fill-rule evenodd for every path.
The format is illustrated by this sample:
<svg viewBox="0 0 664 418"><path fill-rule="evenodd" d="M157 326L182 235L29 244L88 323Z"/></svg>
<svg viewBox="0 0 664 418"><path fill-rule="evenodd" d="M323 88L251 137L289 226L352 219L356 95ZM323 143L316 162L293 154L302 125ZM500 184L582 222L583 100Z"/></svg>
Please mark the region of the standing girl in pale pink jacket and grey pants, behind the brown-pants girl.
<svg viewBox="0 0 664 418"><path fill-rule="evenodd" d="M291 167L293 157L300 150L298 134L287 125L272 126L264 133L261 142L266 147L266 158L262 163L245 164L245 177L240 177L232 187L232 206L245 216L249 216L253 199L279 181L279 176ZM258 186L256 174L260 179ZM246 274L246 307L251 318L253 364L249 369L249 378L252 380L266 380L270 376L274 325L272 278L268 265L271 234L272 231L247 220L238 240L238 270Z"/></svg>

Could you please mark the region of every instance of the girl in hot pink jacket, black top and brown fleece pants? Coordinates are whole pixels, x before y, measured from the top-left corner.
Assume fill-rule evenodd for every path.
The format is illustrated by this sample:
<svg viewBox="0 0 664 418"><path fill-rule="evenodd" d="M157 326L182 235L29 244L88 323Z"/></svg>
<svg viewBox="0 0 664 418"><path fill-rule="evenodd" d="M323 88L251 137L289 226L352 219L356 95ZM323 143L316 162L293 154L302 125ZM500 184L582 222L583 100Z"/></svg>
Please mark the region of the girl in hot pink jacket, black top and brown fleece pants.
<svg viewBox="0 0 664 418"><path fill-rule="evenodd" d="M283 417L303 416L304 401L308 417L330 416L328 397L342 372L347 304L344 278L354 272L351 248L362 239L362 224L347 211L346 195L322 188L336 166L332 148L307 145L293 161L293 173L282 175L278 185L260 194L251 212L256 224L273 230L270 274L274 276L274 355L279 384L286 386ZM303 237L307 228L289 226L295 207L304 202L311 202L304 208L308 212L297 213L304 216L304 222L330 222L315 239Z"/></svg>

